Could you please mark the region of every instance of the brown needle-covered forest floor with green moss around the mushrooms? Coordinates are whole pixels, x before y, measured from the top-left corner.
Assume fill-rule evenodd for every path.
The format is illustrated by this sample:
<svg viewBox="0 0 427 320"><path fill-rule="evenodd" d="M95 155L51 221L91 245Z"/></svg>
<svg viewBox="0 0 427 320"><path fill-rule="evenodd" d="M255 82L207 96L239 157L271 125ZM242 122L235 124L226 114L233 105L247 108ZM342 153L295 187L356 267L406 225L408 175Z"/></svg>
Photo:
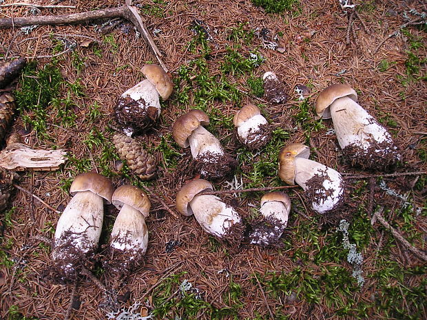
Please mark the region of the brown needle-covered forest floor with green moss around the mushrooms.
<svg viewBox="0 0 427 320"><path fill-rule="evenodd" d="M0 18L114 8L124 1L52 1L75 8L38 10L1 7L12 2L0 1ZM114 19L0 30L0 58L32 61L16 83L12 130L30 147L67 151L61 169L23 171L19 186L58 211L71 199L74 177L85 171L106 175L116 187L130 183L156 195L150 196L146 220L145 263L129 277L114 278L98 262L92 273L103 290L88 277L64 285L45 276L51 248L41 237L52 239L59 213L16 191L1 215L0 318L426 319L426 262L374 215L383 209L398 233L426 250L427 175L408 174L427 170L426 25L400 28L425 21L425 3L358 1L354 11L337 0L273 1L276 9L287 5L282 13L269 13L271 7L250 0L134 3L174 82L158 124L143 136L158 162L149 182L118 166L112 145L118 96L143 80L143 65L157 63L133 25ZM278 74L287 88L286 103L264 100L267 71ZM360 105L401 149L402 161L388 175L346 164L332 121L315 119L315 99L333 83L351 85ZM309 96L299 100L295 85L309 87ZM273 130L260 151L249 151L233 134L233 115L247 103L260 107ZM280 246L271 248L247 243L229 248L205 233L194 216L179 215L175 195L196 173L189 167L189 149L176 145L171 126L194 108L206 111L207 129L238 160L233 176L214 182L216 190L284 185L278 152L302 142L311 148L312 160L343 174L348 230L340 219L313 212L301 188L287 191L289 223ZM263 194L221 198L249 219ZM117 213L105 206L101 244L108 243ZM348 262L348 242L355 244L353 253L362 254L359 264ZM358 280L354 272L360 273ZM133 316L125 317L126 312Z"/></svg>

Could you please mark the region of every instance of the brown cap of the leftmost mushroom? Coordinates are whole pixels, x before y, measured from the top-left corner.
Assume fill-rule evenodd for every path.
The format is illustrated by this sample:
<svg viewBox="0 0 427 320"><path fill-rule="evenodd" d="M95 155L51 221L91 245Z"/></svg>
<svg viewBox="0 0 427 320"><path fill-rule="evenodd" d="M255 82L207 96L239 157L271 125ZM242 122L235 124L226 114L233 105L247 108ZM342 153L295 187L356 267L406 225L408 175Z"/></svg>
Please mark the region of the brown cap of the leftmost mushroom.
<svg viewBox="0 0 427 320"><path fill-rule="evenodd" d="M114 192L114 187L110 179L94 172L81 173L74 178L70 187L71 195L75 195L81 191L91 191L111 204L111 197Z"/></svg>

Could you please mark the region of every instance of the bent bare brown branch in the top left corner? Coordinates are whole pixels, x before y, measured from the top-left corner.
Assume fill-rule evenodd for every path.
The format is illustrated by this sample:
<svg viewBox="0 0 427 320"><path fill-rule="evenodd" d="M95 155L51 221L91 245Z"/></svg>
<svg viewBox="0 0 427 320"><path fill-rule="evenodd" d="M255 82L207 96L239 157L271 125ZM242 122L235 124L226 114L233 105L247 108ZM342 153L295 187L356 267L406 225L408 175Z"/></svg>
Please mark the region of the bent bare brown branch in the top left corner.
<svg viewBox="0 0 427 320"><path fill-rule="evenodd" d="M34 17L20 17L20 18L2 18L0 19L0 28L14 28L22 27L25 25L64 25L73 23L82 23L85 21L96 19L113 19L123 18L130 21L143 36L150 49L156 56L158 63L165 72L168 72L165 63L163 63L161 52L154 43L152 36L150 36L147 28L140 17L138 10L134 6L121 6L118 8L108 8L101 10L94 10L89 12L80 12L73 14L61 14L57 16L34 16Z"/></svg>

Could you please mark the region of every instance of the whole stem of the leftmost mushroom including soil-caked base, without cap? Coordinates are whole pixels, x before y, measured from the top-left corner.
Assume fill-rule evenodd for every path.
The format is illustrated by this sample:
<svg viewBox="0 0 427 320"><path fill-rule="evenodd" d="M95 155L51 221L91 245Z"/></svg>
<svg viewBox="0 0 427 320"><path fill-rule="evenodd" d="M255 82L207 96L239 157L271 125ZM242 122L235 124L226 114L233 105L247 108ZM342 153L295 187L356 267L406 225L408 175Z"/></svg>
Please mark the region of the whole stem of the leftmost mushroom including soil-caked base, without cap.
<svg viewBox="0 0 427 320"><path fill-rule="evenodd" d="M73 275L90 259L102 224L103 198L92 191L76 193L59 217L54 236L52 258L65 275Z"/></svg>

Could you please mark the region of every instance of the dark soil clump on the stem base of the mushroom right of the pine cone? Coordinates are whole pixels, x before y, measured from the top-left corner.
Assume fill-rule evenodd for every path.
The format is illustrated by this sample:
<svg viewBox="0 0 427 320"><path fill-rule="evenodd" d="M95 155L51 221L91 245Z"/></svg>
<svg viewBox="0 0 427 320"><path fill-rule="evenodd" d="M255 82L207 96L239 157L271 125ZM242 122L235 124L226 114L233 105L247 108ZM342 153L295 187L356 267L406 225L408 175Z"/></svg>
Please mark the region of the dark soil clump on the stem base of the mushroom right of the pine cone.
<svg viewBox="0 0 427 320"><path fill-rule="evenodd" d="M193 160L193 167L202 178L219 179L232 173L237 167L237 161L228 153L207 151Z"/></svg>

